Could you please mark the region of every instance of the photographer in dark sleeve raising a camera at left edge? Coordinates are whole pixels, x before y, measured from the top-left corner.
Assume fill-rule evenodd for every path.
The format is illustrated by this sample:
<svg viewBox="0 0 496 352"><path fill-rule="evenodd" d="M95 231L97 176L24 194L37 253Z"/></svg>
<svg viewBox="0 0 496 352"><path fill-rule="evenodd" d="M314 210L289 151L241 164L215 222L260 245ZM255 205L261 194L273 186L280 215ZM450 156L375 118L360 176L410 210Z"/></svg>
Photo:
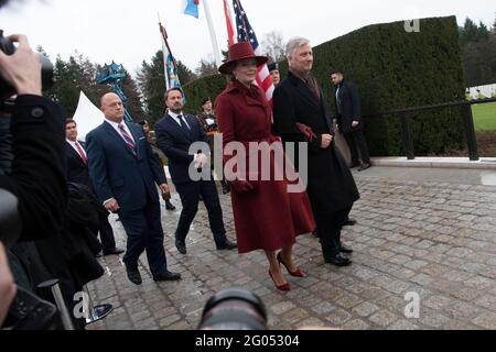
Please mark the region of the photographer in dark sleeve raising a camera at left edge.
<svg viewBox="0 0 496 352"><path fill-rule="evenodd" d="M42 97L42 67L28 38L7 40L19 43L11 55L0 51L1 85L11 87L0 97L1 110L11 114L14 154L12 173L0 176L0 188L18 197L21 240L30 241L62 229L67 200L64 119L60 106ZM15 100L4 101L15 94Z"/></svg>

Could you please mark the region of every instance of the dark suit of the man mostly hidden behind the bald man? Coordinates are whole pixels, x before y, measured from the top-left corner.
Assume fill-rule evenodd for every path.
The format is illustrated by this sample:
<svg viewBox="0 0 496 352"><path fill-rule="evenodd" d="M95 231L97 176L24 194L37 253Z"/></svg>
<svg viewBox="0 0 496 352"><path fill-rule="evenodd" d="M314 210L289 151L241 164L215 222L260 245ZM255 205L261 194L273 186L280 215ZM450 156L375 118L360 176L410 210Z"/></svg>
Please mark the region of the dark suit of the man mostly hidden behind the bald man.
<svg viewBox="0 0 496 352"><path fill-rule="evenodd" d="M82 148L85 148L85 143L78 142ZM85 185L93 189L91 180L89 179L88 165L86 165L76 150L67 142L67 182ZM101 207L104 208L104 207ZM105 210L105 208L103 209ZM104 253L109 253L116 249L116 240L114 238L112 227L108 222L108 211L98 211L99 216L99 233Z"/></svg>

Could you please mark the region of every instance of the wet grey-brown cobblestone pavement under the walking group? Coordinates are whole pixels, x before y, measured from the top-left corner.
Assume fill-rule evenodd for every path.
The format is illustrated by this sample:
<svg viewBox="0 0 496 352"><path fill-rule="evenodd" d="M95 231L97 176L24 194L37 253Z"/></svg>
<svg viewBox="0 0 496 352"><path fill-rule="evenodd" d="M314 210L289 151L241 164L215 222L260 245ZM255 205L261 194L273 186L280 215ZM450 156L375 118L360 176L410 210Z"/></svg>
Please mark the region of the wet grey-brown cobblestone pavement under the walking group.
<svg viewBox="0 0 496 352"><path fill-rule="evenodd" d="M352 266L325 264L319 241L302 235L296 264L308 276L285 275L291 292L279 293L263 253L215 250L203 206L186 242L188 254L181 255L173 240L177 207L163 211L162 220L169 268L183 279L154 283L143 256L143 284L134 286L118 257L105 257L107 274L89 290L95 302L116 310L88 328L195 329L214 293L241 286L261 297L270 329L496 329L496 187L368 175L355 174L362 199L352 217L358 224L343 232L355 250ZM222 196L222 202L235 239L230 198ZM123 248L121 224L112 224ZM405 315L408 293L420 297L419 318Z"/></svg>

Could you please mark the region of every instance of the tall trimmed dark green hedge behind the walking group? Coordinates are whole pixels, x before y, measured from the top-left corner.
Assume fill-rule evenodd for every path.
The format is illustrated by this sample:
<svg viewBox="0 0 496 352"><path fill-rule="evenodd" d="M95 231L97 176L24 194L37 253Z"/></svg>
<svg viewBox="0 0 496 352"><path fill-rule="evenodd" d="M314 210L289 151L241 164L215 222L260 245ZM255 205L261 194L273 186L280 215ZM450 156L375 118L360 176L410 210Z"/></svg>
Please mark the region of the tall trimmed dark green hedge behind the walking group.
<svg viewBox="0 0 496 352"><path fill-rule="evenodd" d="M465 87L455 16L420 20L420 32L408 33L405 22L374 24L314 47L314 75L334 114L333 68L344 70L362 97L363 114L463 100ZM282 77L288 64L280 65ZM185 87L187 106L198 107L225 88L222 76ZM196 108L197 110L197 108ZM419 113L409 119L417 155L439 154L464 145L457 109ZM371 155L405 155L398 117L366 119Z"/></svg>

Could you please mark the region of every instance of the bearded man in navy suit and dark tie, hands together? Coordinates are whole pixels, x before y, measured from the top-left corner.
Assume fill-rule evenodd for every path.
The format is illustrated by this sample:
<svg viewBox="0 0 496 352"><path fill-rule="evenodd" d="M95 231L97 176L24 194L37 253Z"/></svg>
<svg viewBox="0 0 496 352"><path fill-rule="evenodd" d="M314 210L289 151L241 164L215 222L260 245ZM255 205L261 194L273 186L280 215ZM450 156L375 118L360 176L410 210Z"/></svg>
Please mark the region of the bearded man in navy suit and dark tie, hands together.
<svg viewBox="0 0 496 352"><path fill-rule="evenodd" d="M200 196L202 196L208 211L208 220L217 250L234 250L237 245L226 237L223 210L214 180L201 179L195 182L190 176L190 166L196 168L208 167L208 156L202 153L190 154L190 146L195 142L203 142L208 146L208 138L194 116L183 114L183 92L172 88L165 92L165 105L169 112L155 123L155 136L160 150L169 158L169 170L175 189L180 194L183 210L175 232L175 246L182 254L186 254L186 235L191 223L198 211ZM212 174L211 174L212 176Z"/></svg>

